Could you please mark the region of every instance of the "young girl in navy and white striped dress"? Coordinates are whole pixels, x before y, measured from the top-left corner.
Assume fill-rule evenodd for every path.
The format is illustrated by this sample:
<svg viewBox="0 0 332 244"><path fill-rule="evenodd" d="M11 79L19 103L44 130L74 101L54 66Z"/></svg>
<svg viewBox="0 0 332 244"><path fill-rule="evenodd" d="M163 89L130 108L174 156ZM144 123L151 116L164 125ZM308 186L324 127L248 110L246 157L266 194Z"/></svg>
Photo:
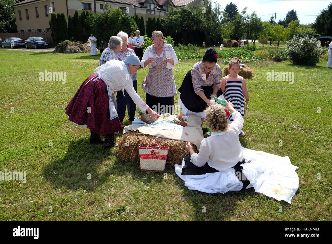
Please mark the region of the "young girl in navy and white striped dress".
<svg viewBox="0 0 332 244"><path fill-rule="evenodd" d="M224 94L225 100L232 102L234 109L244 117L244 106L248 105L249 95L246 87L246 81L242 76L239 76L240 71L240 62L241 60L237 57L234 57L228 63L228 72L229 75L226 75L221 80L221 91ZM244 105L244 99L246 99L246 104ZM233 117L230 115L228 117L229 122L233 122ZM245 136L245 133L241 130L241 136Z"/></svg>

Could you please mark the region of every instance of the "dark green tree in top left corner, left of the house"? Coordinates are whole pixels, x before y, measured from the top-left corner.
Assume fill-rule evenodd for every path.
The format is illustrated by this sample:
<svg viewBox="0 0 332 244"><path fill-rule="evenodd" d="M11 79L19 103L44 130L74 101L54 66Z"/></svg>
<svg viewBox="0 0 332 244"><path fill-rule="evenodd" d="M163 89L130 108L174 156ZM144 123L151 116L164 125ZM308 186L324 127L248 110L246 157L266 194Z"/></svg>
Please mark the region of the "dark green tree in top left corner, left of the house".
<svg viewBox="0 0 332 244"><path fill-rule="evenodd" d="M0 33L17 32L14 9L15 0L0 0Z"/></svg>

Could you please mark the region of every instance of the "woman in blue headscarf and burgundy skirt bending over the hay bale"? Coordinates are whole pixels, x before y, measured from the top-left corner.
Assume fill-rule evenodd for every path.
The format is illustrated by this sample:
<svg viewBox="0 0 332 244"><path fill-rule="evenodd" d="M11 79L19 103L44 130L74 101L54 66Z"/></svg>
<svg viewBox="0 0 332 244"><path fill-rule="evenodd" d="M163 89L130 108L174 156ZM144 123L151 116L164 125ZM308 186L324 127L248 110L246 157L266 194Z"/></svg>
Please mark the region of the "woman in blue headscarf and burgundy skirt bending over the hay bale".
<svg viewBox="0 0 332 244"><path fill-rule="evenodd" d="M114 132L122 126L110 98L114 91L124 89L140 110L146 110L153 120L157 118L132 86L130 74L137 71L139 64L135 54L128 55L124 61L108 61L94 70L69 102L66 115L70 121L90 129L90 143L105 142L106 148L118 146L114 142ZM101 135L105 135L105 141Z"/></svg>

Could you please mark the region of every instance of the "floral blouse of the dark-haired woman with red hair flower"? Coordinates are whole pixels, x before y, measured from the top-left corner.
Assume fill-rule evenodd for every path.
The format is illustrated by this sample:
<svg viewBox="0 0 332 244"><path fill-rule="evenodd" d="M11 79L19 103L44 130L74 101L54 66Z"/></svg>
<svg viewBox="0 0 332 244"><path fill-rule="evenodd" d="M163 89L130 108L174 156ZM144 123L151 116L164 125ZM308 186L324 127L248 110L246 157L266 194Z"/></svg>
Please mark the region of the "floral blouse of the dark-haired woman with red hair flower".
<svg viewBox="0 0 332 244"><path fill-rule="evenodd" d="M191 79L194 85L195 93L198 95L199 91L203 91L202 86L217 86L220 88L221 84L221 68L218 64L214 65L208 77L204 72L203 62L197 62L194 64L191 70Z"/></svg>

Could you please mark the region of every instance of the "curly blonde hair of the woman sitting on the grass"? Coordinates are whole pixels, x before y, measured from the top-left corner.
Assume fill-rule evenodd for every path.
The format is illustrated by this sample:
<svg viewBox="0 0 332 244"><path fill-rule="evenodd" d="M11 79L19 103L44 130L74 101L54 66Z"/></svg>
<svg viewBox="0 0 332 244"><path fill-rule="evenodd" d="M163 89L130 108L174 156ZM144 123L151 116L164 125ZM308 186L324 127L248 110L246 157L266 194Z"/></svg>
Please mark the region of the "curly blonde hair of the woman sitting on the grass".
<svg viewBox="0 0 332 244"><path fill-rule="evenodd" d="M226 131L229 128L229 122L223 106L213 104L204 111L207 126L211 128L212 132Z"/></svg>

